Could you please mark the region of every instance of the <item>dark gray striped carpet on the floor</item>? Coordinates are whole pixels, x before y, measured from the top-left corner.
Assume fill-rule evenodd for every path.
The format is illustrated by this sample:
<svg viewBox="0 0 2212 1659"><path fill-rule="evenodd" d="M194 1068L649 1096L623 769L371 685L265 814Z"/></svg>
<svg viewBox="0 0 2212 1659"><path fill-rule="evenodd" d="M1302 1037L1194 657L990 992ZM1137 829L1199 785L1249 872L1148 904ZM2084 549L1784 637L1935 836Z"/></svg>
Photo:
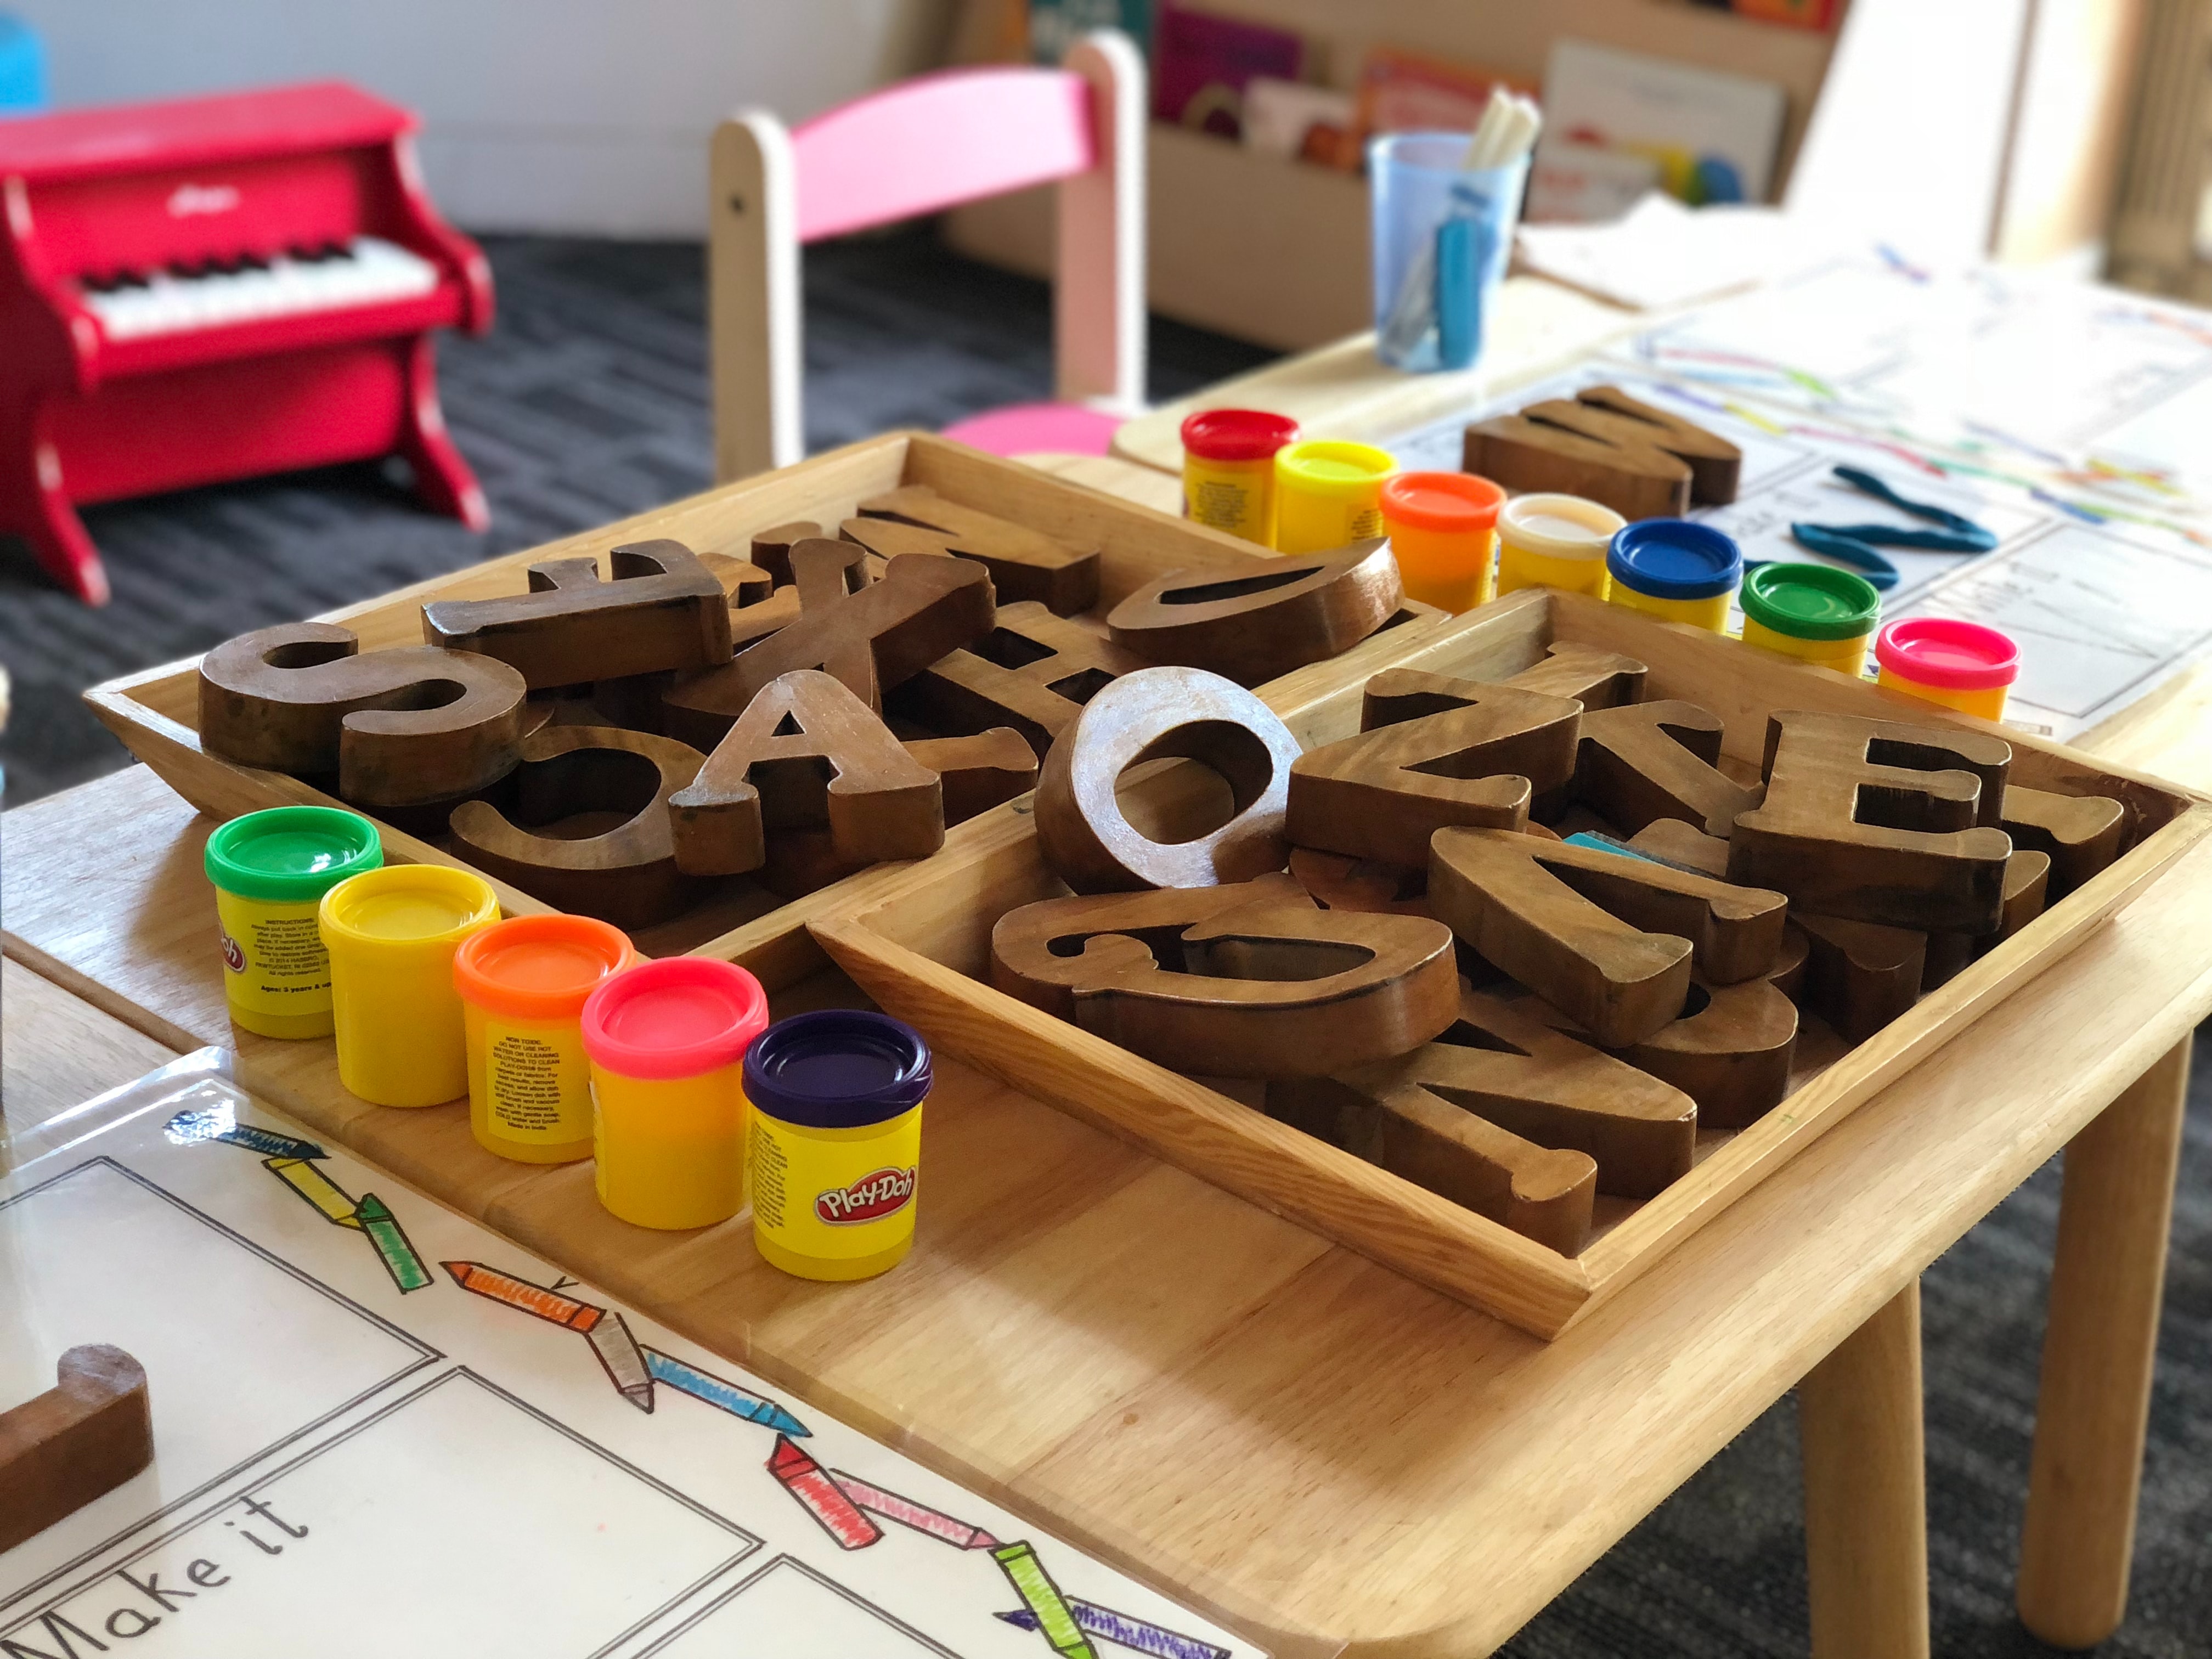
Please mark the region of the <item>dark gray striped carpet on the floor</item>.
<svg viewBox="0 0 2212 1659"><path fill-rule="evenodd" d="M453 434L491 493L473 538L418 513L376 469L204 489L91 511L115 604L84 611L0 546L0 661L18 681L0 739L11 801L124 763L77 703L111 675L243 628L369 597L586 529L708 482L697 248L495 241L500 325L445 347ZM807 438L938 427L1042 396L1035 283L920 237L807 257ZM1152 396L1265 354L1155 325ZM2135 1601L2104 1652L2212 1655L2212 1051L2199 1055L2143 1480ZM1936 1652L2026 1659L2013 1621L2057 1166L1924 1283ZM1754 1422L1506 1648L1513 1659L1770 1659L1805 1652L1796 1413ZM1469 1562L1469 1571L1480 1571Z"/></svg>

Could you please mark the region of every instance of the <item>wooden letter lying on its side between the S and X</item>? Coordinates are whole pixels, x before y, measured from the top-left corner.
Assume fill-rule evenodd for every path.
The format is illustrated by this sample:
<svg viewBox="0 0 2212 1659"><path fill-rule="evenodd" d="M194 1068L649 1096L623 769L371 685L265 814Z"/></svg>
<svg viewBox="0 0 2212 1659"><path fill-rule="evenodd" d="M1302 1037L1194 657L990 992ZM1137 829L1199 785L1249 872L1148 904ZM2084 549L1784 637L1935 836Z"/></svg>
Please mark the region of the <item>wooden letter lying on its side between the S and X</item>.
<svg viewBox="0 0 2212 1659"><path fill-rule="evenodd" d="M611 582L597 560L546 560L529 568L529 593L434 599L422 606L422 639L498 657L531 690L730 661L730 597L697 553L630 542L606 562ZM768 573L741 564L737 584L765 597Z"/></svg>

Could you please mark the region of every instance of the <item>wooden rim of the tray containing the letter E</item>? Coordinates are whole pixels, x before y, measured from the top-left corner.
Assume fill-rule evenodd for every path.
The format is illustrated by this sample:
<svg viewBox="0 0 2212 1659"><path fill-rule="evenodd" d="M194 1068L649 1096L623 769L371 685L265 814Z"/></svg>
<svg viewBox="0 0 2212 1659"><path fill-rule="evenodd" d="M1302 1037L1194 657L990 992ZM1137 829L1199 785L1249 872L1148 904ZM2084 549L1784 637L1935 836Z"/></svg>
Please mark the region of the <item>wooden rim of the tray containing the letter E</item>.
<svg viewBox="0 0 2212 1659"><path fill-rule="evenodd" d="M1564 615L1577 624L1577 637L1597 630L1621 641L1624 650L1632 644L1630 655L1650 661L1655 672L1661 670L1655 657L1681 661L1686 653L1710 655L1723 644L1750 650L1739 641L1717 641L1710 633L1650 622L1577 595L1513 595L1504 606L1548 606L1553 611L1546 613L1546 624ZM1451 661L1453 648L1464 646L1471 635L1500 633L1498 624L1513 615L1504 606L1484 606L1427 635L1400 666L1438 668ZM1575 1259L1542 1250L1495 1221L1444 1203L1349 1152L1298 1135L1265 1113L1053 1020L902 945L876 922L902 898L920 891L911 876L867 894L863 909L825 914L810 922L810 931L823 951L885 1009L914 1018L931 1042L942 1042L969 1064L1334 1243L1383 1261L1431 1290L1498 1314L1533 1336L1555 1338L1606 1305L1697 1228L1942 1048L1982 1013L2062 962L2097 925L2197 841L2212 834L2212 799L2199 792L2110 765L2062 743L1882 692L1825 668L1770 653L1756 655L1763 659L1756 664L1761 675L1787 670L1792 692L1805 692L1796 703L1770 703L1772 708L1896 712L1995 732L2015 748L2048 757L2053 765L2079 768L2099 779L2119 779L2154 792L2172 807L2172 816L2020 936L1920 998L1876 1037L1856 1044L1790 1102L1714 1150L1697 1170L1644 1203ZM1314 706L1303 712L1312 714ZM998 814L1009 814L1009 807L1000 807ZM962 872L980 869L984 860L1004 856L1031 836L1018 816L995 816L989 830L980 825L984 821L978 821L978 834L962 843L958 863L929 872L931 885L953 883ZM1004 1044L1004 1051L993 1053L989 1040ZM1110 1077L1115 1088L1075 1095L1073 1088L1086 1075ZM1318 1203L1314 1197L1318 1186L1349 1194L1349 1212L1332 1212Z"/></svg>

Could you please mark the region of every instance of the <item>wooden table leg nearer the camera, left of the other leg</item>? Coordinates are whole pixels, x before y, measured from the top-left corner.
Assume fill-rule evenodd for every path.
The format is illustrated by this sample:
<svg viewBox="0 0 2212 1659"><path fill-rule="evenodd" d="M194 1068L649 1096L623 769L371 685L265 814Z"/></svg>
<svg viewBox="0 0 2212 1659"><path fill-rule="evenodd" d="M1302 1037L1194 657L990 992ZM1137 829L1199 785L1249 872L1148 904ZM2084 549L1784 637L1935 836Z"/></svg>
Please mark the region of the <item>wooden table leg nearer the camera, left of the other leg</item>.
<svg viewBox="0 0 2212 1659"><path fill-rule="evenodd" d="M1920 1281L1798 1383L1814 1659L1927 1659Z"/></svg>

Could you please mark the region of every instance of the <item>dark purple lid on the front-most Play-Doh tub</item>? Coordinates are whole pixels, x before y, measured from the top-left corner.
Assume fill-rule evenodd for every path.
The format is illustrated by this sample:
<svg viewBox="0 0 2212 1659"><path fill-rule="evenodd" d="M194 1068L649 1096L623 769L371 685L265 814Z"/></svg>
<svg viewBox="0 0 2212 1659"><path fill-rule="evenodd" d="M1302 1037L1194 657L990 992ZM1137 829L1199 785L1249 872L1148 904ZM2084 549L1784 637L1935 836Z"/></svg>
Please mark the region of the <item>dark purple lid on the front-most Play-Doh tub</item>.
<svg viewBox="0 0 2212 1659"><path fill-rule="evenodd" d="M929 1044L887 1013L823 1009L776 1020L745 1048L745 1099L807 1128L865 1128L929 1093Z"/></svg>

